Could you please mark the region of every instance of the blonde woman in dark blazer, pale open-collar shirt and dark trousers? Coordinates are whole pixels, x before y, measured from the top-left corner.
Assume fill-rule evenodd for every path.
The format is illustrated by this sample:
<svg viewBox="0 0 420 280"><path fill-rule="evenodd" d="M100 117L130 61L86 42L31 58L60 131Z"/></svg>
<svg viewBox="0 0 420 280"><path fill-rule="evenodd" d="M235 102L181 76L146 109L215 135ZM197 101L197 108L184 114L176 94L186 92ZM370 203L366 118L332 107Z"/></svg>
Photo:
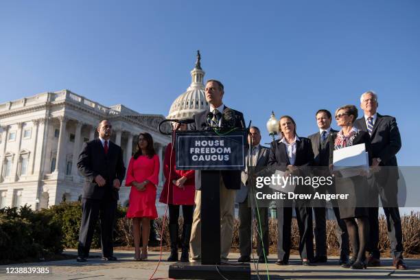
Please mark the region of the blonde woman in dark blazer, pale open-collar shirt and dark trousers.
<svg viewBox="0 0 420 280"><path fill-rule="evenodd" d="M279 120L279 130L283 135L280 141L272 141L268 165L288 174L304 176L302 166L312 165L314 152L310 139L296 135L296 123L289 116ZM311 186L296 185L294 193L308 194ZM312 233L312 208L308 200L295 200L296 219L299 226L299 253L302 264L310 265L314 257ZM290 256L290 237L292 229L292 200L277 200L277 261L279 266L287 265Z"/></svg>

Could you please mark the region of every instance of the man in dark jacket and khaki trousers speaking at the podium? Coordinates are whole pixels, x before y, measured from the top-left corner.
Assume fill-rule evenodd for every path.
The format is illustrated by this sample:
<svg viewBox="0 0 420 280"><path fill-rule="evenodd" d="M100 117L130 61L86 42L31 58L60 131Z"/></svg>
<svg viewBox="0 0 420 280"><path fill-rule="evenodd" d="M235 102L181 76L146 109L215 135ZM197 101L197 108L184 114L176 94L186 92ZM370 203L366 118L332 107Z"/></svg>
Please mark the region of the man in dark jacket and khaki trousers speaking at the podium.
<svg viewBox="0 0 420 280"><path fill-rule="evenodd" d="M226 107L222 98L224 86L218 80L206 83L206 100L209 108L194 115L191 130L218 128L244 128L244 115L237 110ZM226 261L232 246L233 220L235 216L235 190L241 187L240 170L224 170L220 179L220 259ZM189 242L190 261L201 259L201 173L196 172L196 197L194 200L193 224Z"/></svg>

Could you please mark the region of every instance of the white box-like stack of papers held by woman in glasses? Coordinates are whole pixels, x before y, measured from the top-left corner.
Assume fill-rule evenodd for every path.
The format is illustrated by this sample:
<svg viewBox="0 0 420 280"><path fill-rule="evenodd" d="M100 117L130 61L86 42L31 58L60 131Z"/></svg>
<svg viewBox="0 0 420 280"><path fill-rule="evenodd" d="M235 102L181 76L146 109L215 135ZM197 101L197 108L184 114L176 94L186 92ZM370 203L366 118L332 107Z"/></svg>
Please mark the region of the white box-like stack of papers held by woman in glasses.
<svg viewBox="0 0 420 280"><path fill-rule="evenodd" d="M369 168L369 154L364 143L351 145L346 148L334 150L334 171L339 171L342 178L360 175L362 170Z"/></svg>

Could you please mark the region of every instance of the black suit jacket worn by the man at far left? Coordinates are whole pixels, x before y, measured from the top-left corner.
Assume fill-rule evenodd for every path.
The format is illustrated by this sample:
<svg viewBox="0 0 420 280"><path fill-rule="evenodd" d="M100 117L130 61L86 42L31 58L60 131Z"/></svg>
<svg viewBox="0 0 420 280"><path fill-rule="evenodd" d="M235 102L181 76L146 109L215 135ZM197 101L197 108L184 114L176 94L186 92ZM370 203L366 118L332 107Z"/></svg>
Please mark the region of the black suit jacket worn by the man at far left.
<svg viewBox="0 0 420 280"><path fill-rule="evenodd" d="M119 145L109 141L108 153L105 154L100 139L85 142L79 155L78 170L86 178L82 198L119 199L117 189L113 188L113 181L117 178L122 183L126 174ZM97 175L101 175L106 180L106 185L103 187L97 185L95 182Z"/></svg>

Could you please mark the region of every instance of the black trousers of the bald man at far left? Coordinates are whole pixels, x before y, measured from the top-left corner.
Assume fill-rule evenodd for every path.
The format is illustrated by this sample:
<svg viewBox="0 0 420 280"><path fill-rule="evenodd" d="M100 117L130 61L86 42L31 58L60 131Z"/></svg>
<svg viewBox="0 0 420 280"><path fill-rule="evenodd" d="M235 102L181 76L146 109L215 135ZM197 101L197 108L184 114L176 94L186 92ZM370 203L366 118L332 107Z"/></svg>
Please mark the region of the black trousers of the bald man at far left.
<svg viewBox="0 0 420 280"><path fill-rule="evenodd" d="M91 249L93 232L100 218L102 256L113 255L113 231L117 200L95 200L82 198L82 222L80 224L78 255L88 257Z"/></svg>

